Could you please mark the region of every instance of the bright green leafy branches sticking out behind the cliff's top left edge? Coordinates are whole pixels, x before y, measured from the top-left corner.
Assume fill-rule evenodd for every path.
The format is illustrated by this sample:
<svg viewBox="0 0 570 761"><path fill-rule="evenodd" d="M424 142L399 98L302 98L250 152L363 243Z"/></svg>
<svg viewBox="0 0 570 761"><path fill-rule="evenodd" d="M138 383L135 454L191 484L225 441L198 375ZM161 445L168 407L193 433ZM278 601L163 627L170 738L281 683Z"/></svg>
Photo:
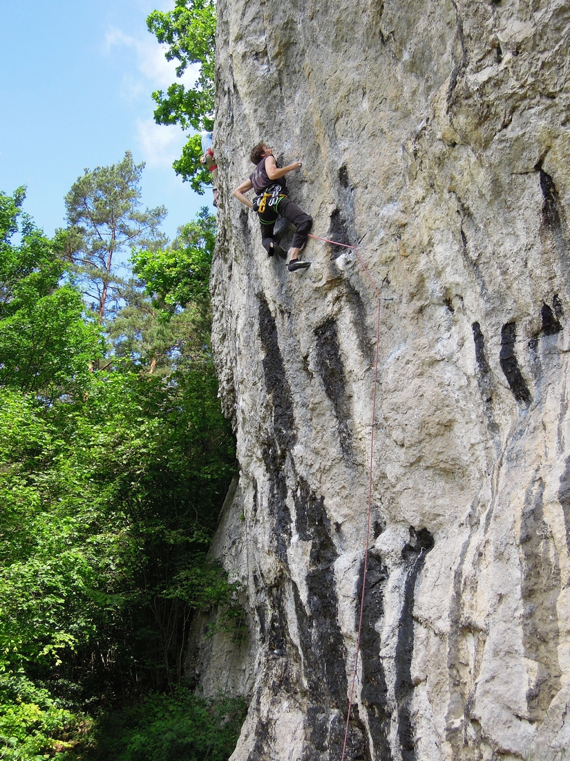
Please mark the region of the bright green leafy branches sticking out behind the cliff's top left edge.
<svg viewBox="0 0 570 761"><path fill-rule="evenodd" d="M216 50L216 6L212 0L176 0L173 11L153 11L147 26L160 43L166 44L166 59L176 60L176 75L181 77L189 65L198 65L198 78L192 88L180 82L166 91L156 91L154 119L157 124L179 124L182 129L211 130L214 126L214 55ZM210 173L198 161L200 135L192 135L173 167L176 174L190 180L192 188L204 192L211 183Z"/></svg>

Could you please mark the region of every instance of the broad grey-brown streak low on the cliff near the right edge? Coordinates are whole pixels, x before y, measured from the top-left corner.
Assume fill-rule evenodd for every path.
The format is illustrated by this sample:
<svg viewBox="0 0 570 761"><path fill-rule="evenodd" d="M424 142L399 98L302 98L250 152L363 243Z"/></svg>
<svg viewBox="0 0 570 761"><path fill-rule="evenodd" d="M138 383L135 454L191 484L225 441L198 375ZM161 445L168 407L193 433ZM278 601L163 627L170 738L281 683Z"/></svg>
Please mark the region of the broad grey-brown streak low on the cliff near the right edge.
<svg viewBox="0 0 570 761"><path fill-rule="evenodd" d="M556 602L560 565L552 532L543 516L543 479L527 489L521 516L521 616L524 655L537 664L527 689L530 721L540 721L560 689L559 626Z"/></svg>

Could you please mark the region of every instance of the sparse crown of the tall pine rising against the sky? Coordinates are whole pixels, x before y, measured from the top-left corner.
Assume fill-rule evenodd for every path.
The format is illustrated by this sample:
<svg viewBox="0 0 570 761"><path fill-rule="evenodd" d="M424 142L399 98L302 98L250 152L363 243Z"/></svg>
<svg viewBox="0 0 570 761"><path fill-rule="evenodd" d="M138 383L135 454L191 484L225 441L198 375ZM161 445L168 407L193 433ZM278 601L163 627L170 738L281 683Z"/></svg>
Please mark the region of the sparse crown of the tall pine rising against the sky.
<svg viewBox="0 0 570 761"><path fill-rule="evenodd" d="M84 170L65 196L68 255L100 322L122 298L125 261L118 260L120 254L135 245L153 249L165 243L159 230L164 206L141 211L143 168L126 151L119 164Z"/></svg>

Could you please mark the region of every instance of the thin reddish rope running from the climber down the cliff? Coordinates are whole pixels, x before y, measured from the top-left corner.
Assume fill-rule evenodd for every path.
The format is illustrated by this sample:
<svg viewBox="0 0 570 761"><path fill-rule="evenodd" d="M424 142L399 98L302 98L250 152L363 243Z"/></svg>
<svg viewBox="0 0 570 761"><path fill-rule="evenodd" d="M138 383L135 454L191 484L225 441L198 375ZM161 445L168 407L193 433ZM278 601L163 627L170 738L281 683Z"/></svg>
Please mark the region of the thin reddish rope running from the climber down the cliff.
<svg viewBox="0 0 570 761"><path fill-rule="evenodd" d="M372 288L374 289L376 298L378 299L378 314L376 317L376 349L375 349L375 362L374 362L374 384L372 387L373 388L372 390L372 423L370 425L370 468L369 468L369 482L368 482L368 509L366 511L366 541L364 545L363 591L360 597L360 616L359 616L359 622L358 622L358 635L356 637L356 656L354 659L353 680L350 686L350 697L348 700L347 724L346 724L346 727L344 728L343 754L341 758L341 761L344 761L344 756L345 756L345 753L347 752L348 730L350 727L350 713L352 711L352 706L353 706L354 688L356 686L356 677L358 675L360 642L361 642L362 631L363 631L364 595L366 593L366 573L368 572L370 522L372 517L372 466L374 463L374 428L375 428L375 417L376 417L376 389L378 387L378 349L380 346L380 307L381 307L381 302L383 301L383 299L382 299L382 296L378 293L378 288L376 288L375 283L372 280L372 276L370 275L368 269L366 268L366 264L364 263L362 256L360 256L359 250L356 248L356 246L349 246L348 244L345 244L345 243L337 243L336 240L329 240L328 238L318 237L318 235L309 234L309 237L315 238L315 240L324 240L325 243L330 243L330 244L333 244L334 246L342 246L343 248L353 249L354 253L356 253L356 256L358 257L360 265L362 266L364 272L366 273L366 277L369 279L370 285L372 285Z"/></svg>

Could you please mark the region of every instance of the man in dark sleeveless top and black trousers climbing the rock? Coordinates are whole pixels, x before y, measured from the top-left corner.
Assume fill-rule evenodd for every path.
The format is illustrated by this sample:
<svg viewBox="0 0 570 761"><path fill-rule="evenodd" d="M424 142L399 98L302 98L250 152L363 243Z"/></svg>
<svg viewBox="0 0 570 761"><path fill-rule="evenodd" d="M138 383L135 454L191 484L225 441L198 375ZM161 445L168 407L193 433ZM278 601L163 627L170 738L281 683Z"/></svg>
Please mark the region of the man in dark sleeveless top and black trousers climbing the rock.
<svg viewBox="0 0 570 761"><path fill-rule="evenodd" d="M301 162L294 161L287 167L278 167L273 150L264 142L258 143L252 148L249 158L251 158L252 164L255 164L255 170L249 175L249 180L245 180L233 191L233 195L249 209L257 212L261 225L261 243L269 256L277 253L283 259L287 258L287 253L280 247L277 240L274 240L273 236L277 216L281 216L295 225L296 230L291 242L287 269L289 272L295 272L296 269L306 269L311 263L299 261L299 253L306 244L312 225L312 217L299 209L299 206L287 197L287 186L283 180L288 172L300 169ZM253 202L245 196L245 193L252 188L255 190Z"/></svg>

